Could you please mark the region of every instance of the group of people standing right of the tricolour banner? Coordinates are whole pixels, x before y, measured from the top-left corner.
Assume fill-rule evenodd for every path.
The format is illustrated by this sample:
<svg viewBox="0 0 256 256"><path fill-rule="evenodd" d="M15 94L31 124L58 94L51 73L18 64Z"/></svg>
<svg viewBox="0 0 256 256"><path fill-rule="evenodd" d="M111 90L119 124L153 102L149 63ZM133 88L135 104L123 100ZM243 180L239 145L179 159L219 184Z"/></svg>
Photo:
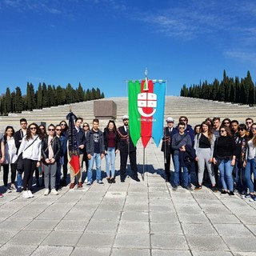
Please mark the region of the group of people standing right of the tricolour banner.
<svg viewBox="0 0 256 256"><path fill-rule="evenodd" d="M202 190L203 179L208 176L211 189L218 192L218 173L221 194L242 194L256 201L256 123L246 118L245 123L224 118L206 118L194 129L188 118L182 116L174 126L174 118L166 118L162 138L166 182L170 182L170 160L174 162L173 190L182 185L193 190L191 171L195 171L197 185ZM205 170L207 173L205 173ZM249 193L248 193L249 192Z"/></svg>

